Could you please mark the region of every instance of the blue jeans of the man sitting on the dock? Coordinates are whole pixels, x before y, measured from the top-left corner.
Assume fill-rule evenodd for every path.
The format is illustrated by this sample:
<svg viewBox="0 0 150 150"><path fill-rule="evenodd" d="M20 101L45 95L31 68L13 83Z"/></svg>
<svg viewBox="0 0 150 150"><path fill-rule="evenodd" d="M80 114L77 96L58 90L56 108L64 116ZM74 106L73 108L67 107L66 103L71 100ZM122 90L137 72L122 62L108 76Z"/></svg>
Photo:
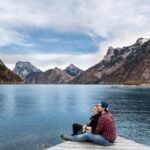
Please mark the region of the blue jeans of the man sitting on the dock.
<svg viewBox="0 0 150 150"><path fill-rule="evenodd" d="M99 145L105 145L110 146L113 143L109 142L105 138L103 138L101 135L91 134L91 133L84 133L80 135L74 135L70 137L70 140L75 142L92 142Z"/></svg>

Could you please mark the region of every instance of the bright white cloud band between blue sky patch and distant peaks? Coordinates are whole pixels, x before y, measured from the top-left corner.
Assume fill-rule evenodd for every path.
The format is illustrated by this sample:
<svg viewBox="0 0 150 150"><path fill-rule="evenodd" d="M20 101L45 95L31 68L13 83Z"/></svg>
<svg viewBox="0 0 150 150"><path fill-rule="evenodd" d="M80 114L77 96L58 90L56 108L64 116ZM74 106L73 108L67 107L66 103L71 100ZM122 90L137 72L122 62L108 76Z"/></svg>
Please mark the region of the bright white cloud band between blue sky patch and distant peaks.
<svg viewBox="0 0 150 150"><path fill-rule="evenodd" d="M14 69L17 61L29 61L42 71L59 67L65 69L69 64L74 64L83 70L91 67L91 64L95 64L100 60L100 56L97 54L84 54L84 55L71 55L71 54L26 54L26 55L10 55L0 54L3 62L7 62L6 65L11 70Z"/></svg>

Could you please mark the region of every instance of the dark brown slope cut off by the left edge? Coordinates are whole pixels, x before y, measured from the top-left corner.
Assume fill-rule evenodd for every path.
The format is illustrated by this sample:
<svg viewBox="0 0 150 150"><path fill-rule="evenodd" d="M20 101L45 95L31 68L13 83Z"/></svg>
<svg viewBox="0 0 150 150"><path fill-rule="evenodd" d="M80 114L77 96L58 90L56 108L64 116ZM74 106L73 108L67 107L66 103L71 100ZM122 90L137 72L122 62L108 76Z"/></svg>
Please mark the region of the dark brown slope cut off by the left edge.
<svg viewBox="0 0 150 150"><path fill-rule="evenodd" d="M22 79L9 70L0 60L0 83L22 83Z"/></svg>

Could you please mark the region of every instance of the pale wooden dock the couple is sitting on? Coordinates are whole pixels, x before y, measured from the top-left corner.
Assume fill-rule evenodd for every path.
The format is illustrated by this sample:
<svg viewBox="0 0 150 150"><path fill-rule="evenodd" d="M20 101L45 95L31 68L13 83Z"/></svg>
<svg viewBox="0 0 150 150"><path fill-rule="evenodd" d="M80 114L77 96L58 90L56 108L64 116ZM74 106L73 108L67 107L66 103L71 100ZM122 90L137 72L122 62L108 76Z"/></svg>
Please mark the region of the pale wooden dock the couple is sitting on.
<svg viewBox="0 0 150 150"><path fill-rule="evenodd" d="M112 146L101 146L87 142L64 142L46 150L150 150L145 146L123 137L118 137Z"/></svg>

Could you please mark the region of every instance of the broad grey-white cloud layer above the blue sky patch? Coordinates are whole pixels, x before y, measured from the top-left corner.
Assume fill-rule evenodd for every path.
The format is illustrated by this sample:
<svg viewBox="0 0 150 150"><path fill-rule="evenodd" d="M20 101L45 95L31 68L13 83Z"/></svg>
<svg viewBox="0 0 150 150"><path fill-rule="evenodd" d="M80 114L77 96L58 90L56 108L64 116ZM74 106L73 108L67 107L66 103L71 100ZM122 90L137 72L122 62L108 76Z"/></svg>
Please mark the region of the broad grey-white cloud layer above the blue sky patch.
<svg viewBox="0 0 150 150"><path fill-rule="evenodd" d="M0 6L1 24L9 27L92 32L108 40L149 29L148 0L7 0Z"/></svg>

